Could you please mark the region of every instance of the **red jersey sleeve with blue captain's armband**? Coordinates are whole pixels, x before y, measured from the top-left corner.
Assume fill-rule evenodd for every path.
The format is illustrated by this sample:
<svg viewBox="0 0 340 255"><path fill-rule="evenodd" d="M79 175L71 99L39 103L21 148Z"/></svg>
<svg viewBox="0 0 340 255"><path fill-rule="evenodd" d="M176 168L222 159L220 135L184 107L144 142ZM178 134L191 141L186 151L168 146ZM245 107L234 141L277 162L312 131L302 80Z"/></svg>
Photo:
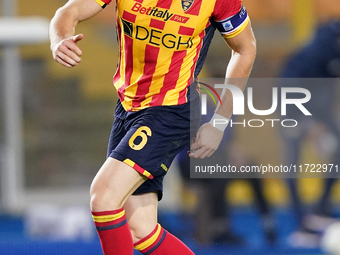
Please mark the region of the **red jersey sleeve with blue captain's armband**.
<svg viewBox="0 0 340 255"><path fill-rule="evenodd" d="M212 19L224 38L238 35L249 23L242 0L216 0Z"/></svg>

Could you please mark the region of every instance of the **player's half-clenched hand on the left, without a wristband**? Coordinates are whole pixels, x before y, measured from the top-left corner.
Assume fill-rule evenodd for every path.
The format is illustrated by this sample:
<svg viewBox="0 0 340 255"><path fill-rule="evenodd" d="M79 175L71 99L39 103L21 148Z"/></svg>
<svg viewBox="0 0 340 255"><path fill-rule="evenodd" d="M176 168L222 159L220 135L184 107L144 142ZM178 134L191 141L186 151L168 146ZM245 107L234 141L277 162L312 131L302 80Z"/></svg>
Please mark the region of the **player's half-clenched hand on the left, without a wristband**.
<svg viewBox="0 0 340 255"><path fill-rule="evenodd" d="M51 45L53 58L60 64L66 67L74 67L77 66L82 55L81 50L77 46L77 43L83 39L83 34L78 34L75 36L71 36L66 38L56 45Z"/></svg>

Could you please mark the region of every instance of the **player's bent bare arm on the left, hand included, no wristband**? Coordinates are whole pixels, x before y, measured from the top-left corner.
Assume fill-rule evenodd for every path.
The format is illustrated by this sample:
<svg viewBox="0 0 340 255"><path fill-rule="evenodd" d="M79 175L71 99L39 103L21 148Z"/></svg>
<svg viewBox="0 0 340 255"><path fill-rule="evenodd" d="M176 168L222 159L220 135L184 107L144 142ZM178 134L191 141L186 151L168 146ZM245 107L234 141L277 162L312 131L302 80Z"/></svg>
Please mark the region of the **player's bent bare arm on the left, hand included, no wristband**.
<svg viewBox="0 0 340 255"><path fill-rule="evenodd" d="M50 42L53 58L66 67L77 66L82 51L77 42L83 39L83 34L75 34L75 27L81 21L87 20L102 10L95 0L69 0L59 8L50 24Z"/></svg>

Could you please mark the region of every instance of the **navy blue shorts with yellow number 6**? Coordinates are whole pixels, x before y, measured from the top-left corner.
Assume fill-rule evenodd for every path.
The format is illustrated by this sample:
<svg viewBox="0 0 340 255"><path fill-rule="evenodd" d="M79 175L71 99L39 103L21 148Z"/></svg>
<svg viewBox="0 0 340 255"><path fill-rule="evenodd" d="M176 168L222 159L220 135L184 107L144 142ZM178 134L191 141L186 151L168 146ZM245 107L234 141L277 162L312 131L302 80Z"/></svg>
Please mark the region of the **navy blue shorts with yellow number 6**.
<svg viewBox="0 0 340 255"><path fill-rule="evenodd" d="M148 177L134 195L157 192L161 200L163 178L175 156L189 146L190 134L196 133L199 123L199 98L136 112L126 112L118 100L107 156Z"/></svg>

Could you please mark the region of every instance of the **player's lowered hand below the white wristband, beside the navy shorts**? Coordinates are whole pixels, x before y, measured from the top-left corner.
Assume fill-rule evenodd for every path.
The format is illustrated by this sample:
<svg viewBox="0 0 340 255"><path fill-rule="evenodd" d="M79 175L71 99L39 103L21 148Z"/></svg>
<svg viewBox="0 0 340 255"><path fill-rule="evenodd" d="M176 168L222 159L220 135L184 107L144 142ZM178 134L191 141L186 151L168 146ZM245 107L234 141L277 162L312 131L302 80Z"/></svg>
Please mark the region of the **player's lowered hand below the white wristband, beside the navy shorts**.
<svg viewBox="0 0 340 255"><path fill-rule="evenodd" d="M197 131L196 138L190 146L191 158L210 157L218 148L223 138L223 131L209 123L203 124Z"/></svg>

